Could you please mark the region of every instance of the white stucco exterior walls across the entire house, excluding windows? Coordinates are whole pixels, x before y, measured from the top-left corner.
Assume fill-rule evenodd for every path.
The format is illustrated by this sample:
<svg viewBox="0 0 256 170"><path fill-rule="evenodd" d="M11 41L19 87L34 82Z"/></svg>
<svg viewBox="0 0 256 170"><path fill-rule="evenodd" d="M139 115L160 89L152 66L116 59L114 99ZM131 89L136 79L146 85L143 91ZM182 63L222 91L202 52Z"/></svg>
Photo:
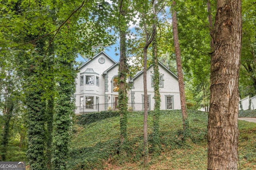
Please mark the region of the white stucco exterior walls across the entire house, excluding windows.
<svg viewBox="0 0 256 170"><path fill-rule="evenodd" d="M99 59L104 58L104 63L100 63ZM87 61L82 66L80 66L78 77L76 79L76 106L80 106L80 97L84 96L83 105L86 106L85 96L93 96L93 104L105 104L108 103L108 106L100 105L93 106L93 108L88 108L90 105L82 109L81 112L90 112L90 111L100 111L106 110L109 107L111 109L116 109L118 104L118 92L113 92L113 79L118 76L118 63L113 61L110 57L106 56L105 53L100 53L92 58L92 60ZM90 68L90 70L87 70ZM92 71L93 70L93 71ZM159 65L160 75L163 75L163 87L160 87L161 95L161 106L160 109L167 109L166 107L166 96L172 96L172 109L180 109L180 94L177 77L172 74L165 66L162 64ZM153 67L147 70L147 88L148 96L150 97L150 109L154 109L154 88L152 87L152 76L153 76ZM84 85L80 86L80 77L84 76ZM94 76L94 85L86 84L86 76ZM96 76L99 77L99 86L96 86ZM142 103L143 102L143 74L139 74L132 79L133 86L128 90L128 103ZM131 80L131 81L132 81ZM128 80L127 80L128 82ZM96 102L96 97L99 101ZM89 101L89 100L88 100ZM112 104L111 104L112 103ZM129 105L130 106L130 105ZM133 107L133 106L132 106ZM84 108L84 107L83 107ZM99 109L100 108L100 109ZM82 109L82 111L81 111ZM143 108L137 108L143 109Z"/></svg>

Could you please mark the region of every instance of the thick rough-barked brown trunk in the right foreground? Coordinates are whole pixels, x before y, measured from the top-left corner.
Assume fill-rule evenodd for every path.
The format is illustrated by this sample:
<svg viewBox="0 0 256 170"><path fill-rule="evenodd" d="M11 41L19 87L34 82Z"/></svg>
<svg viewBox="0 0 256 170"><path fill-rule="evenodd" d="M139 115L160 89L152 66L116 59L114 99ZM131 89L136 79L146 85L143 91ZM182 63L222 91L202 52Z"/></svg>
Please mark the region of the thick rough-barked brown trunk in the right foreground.
<svg viewBox="0 0 256 170"><path fill-rule="evenodd" d="M236 170L241 1L218 0L210 69L208 170Z"/></svg>

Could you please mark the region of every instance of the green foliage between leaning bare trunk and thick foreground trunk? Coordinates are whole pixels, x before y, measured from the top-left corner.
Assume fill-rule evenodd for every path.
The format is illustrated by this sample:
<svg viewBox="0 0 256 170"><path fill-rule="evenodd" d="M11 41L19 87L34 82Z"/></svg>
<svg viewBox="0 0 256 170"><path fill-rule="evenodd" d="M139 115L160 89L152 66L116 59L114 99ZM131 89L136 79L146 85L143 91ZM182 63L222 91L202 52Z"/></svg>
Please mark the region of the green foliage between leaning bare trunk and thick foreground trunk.
<svg viewBox="0 0 256 170"><path fill-rule="evenodd" d="M209 43L211 37L206 2L202 0L179 1L176 4L176 9L180 11L178 13L178 33L186 82L186 104L187 107L196 109L205 107L207 110L210 101ZM188 94L191 94L190 98L188 98Z"/></svg>

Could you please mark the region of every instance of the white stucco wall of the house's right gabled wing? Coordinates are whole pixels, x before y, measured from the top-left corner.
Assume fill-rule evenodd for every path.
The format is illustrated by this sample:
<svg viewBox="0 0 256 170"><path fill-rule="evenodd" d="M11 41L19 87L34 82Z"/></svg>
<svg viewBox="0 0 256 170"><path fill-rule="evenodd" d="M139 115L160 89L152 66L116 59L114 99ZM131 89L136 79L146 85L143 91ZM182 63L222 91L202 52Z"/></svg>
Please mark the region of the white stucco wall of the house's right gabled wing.
<svg viewBox="0 0 256 170"><path fill-rule="evenodd" d="M179 86L178 80L171 76L165 69L159 66L159 72L163 75L163 83L164 86L159 88L160 95L161 95L161 106L160 109L166 109L166 95L173 96L173 109L181 109L180 105L180 94L179 94ZM151 85L151 75L153 74L153 67L151 67L147 71L147 88L148 88L148 96L150 96L150 110L154 108L154 88ZM136 78L133 82L132 92L134 94L134 102L135 103L142 103L142 97L144 95L143 90L143 74ZM132 102L131 98L129 98L129 102Z"/></svg>

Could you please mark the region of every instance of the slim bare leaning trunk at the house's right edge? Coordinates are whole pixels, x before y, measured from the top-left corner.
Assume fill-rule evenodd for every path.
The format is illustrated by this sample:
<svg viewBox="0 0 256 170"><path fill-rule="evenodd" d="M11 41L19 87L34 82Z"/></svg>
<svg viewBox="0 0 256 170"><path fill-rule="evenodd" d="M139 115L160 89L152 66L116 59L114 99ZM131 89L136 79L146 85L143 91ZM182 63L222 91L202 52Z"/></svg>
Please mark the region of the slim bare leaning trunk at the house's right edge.
<svg viewBox="0 0 256 170"><path fill-rule="evenodd" d="M178 37L178 25L177 25L175 6L176 6L176 2L173 1L172 2L172 30L173 30L174 48L175 48L176 63L177 63L178 82L179 82L179 88L180 88L180 104L181 104L181 111L182 111L183 129L186 134L186 126L188 126L188 114L186 111L185 88L184 88L182 64L181 64L181 57L180 57L180 43L179 43L179 37Z"/></svg>

